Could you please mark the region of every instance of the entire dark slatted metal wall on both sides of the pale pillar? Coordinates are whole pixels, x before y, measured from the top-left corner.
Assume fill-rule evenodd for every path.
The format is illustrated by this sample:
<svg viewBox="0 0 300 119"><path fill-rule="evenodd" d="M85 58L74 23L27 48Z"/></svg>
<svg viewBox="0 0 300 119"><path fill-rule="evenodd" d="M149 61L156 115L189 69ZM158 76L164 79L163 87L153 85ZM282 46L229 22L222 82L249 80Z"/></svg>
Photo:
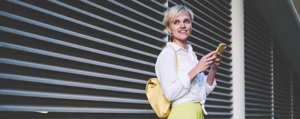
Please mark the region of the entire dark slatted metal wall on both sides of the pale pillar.
<svg viewBox="0 0 300 119"><path fill-rule="evenodd" d="M227 44L205 118L230 118L230 2L0 0L0 118L157 118L144 89L174 4L195 13L188 43L197 57ZM249 0L244 20L246 118L299 117L299 79Z"/></svg>

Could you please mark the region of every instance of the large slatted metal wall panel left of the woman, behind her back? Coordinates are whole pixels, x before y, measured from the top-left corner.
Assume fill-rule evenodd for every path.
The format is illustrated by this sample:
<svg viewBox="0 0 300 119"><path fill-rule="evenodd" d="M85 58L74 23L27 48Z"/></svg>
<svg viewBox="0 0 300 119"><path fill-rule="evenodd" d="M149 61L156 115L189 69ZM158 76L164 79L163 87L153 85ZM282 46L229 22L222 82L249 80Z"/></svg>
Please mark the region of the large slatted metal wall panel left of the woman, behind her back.
<svg viewBox="0 0 300 119"><path fill-rule="evenodd" d="M0 118L157 118L166 2L1 0Z"/></svg>

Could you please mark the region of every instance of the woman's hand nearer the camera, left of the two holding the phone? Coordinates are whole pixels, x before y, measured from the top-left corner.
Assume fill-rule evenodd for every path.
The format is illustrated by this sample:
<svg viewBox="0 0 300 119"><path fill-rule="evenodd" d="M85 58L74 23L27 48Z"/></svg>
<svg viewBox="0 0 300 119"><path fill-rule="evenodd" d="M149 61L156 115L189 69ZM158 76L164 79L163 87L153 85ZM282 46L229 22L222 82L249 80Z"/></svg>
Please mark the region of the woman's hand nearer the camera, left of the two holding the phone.
<svg viewBox="0 0 300 119"><path fill-rule="evenodd" d="M195 68L197 69L198 73L204 72L210 65L214 63L214 59L217 56L212 56L215 51L211 51L210 53L204 55L199 62L196 64Z"/></svg>

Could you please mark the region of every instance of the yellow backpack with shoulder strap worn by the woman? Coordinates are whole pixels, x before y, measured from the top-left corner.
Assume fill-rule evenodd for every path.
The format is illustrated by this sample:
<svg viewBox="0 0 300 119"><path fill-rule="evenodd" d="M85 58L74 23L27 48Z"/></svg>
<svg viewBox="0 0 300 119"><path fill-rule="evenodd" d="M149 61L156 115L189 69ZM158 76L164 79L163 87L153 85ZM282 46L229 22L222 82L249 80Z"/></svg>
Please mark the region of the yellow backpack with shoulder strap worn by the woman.
<svg viewBox="0 0 300 119"><path fill-rule="evenodd" d="M176 69L178 69L177 53L173 47L172 49L175 51ZM166 100L165 96L163 95L157 78L150 78L148 80L146 84L146 96L151 107L159 118L165 118L168 116L171 110L171 102Z"/></svg>

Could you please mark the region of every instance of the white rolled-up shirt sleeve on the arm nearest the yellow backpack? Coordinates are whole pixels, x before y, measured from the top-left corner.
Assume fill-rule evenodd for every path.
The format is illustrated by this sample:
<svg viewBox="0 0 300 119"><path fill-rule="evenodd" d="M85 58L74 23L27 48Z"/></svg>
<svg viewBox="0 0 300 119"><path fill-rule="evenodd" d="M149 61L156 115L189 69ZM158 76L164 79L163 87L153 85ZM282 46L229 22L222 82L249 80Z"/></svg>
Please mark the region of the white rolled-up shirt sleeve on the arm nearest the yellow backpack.
<svg viewBox="0 0 300 119"><path fill-rule="evenodd" d="M155 73L162 92L168 101L187 94L190 88L190 80L187 73L177 75L175 52L172 49L164 49L158 55Z"/></svg>

